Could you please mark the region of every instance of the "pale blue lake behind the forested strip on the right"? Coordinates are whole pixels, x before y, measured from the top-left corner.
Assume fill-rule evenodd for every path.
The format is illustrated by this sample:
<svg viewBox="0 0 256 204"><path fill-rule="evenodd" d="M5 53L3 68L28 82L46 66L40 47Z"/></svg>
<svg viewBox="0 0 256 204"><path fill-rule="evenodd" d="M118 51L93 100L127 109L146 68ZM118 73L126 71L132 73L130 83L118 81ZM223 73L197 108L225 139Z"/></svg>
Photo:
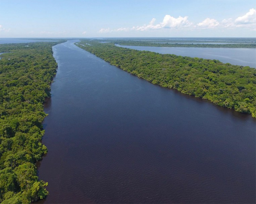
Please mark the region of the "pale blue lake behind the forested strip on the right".
<svg viewBox="0 0 256 204"><path fill-rule="evenodd" d="M148 50L161 54L174 54L188 57L220 60L220 62L224 63L256 68L256 48L146 47L128 45L116 46L127 47L136 50Z"/></svg>

